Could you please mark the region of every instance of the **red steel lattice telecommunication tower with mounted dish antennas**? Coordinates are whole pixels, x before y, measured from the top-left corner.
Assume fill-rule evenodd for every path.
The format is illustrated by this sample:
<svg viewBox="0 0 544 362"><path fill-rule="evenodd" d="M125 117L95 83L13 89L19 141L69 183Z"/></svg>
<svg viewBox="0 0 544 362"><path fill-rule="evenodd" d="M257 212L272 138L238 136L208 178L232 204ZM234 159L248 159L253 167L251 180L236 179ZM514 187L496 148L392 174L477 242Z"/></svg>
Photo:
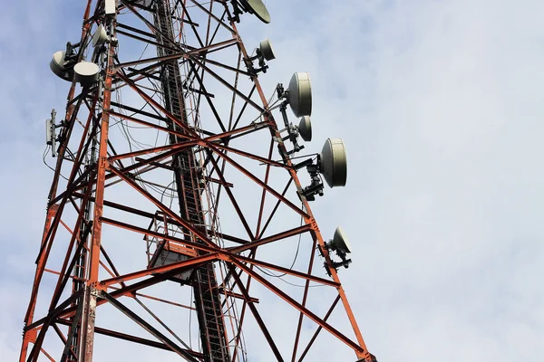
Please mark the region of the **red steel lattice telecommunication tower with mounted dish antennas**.
<svg viewBox="0 0 544 362"><path fill-rule="evenodd" d="M65 115L46 121L56 167L20 361L119 360L136 346L320 360L316 340L375 361L338 278L349 243L340 227L325 240L309 206L323 179L345 186L344 142L301 153L309 75L266 93L272 45L248 50L238 33L249 16L269 23L267 7L85 3L81 36L50 63L71 86Z"/></svg>

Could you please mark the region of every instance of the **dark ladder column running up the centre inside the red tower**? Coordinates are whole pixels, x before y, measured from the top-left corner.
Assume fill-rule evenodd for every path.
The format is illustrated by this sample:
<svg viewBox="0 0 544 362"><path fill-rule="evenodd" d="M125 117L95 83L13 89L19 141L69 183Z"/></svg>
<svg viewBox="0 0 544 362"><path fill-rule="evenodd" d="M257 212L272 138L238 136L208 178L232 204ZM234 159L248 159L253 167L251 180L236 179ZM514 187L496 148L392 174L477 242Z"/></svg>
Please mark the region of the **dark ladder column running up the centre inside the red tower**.
<svg viewBox="0 0 544 362"><path fill-rule="evenodd" d="M155 2L155 26L163 35L174 39L170 18L170 5L168 0ZM168 39L157 35L159 43L170 44ZM166 47L158 47L159 56L173 53ZM169 62L163 67L161 76L162 90L164 92L167 109L172 115L189 126L185 113L183 99L183 84L180 76L180 68L177 62ZM169 122L168 127L182 132L182 129L174 122ZM170 143L180 143L183 138L170 134ZM175 173L176 186L180 201L180 214L197 229L206 232L205 218L202 210L199 174L196 172L196 158L192 148L176 154L172 159ZM185 233L189 238L189 232ZM196 243L203 243L194 240ZM185 257L180 255L180 257ZM171 262L174 262L173 260ZM229 350L225 320L223 317L219 287L212 263L201 266L193 272L192 283L195 295L195 304L199 319L200 340L204 355L209 357L209 362L229 361Z"/></svg>

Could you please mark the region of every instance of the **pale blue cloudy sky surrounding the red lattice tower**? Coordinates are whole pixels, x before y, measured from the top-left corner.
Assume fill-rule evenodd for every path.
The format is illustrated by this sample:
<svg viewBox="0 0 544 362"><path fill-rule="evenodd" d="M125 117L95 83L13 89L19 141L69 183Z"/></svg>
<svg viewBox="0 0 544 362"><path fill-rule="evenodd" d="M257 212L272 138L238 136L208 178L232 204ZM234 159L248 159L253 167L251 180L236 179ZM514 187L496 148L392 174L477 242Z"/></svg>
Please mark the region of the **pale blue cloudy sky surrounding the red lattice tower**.
<svg viewBox="0 0 544 362"><path fill-rule="evenodd" d="M0 14L0 359L18 356L52 172L44 119L68 87L49 71L83 1ZM314 139L345 139L348 184L312 208L354 252L340 278L379 361L538 362L544 354L544 4L267 0L272 90L308 71ZM278 309L279 310L279 309ZM263 355L256 360L273 360ZM150 359L151 360L151 359ZM355 360L355 357L354 359Z"/></svg>

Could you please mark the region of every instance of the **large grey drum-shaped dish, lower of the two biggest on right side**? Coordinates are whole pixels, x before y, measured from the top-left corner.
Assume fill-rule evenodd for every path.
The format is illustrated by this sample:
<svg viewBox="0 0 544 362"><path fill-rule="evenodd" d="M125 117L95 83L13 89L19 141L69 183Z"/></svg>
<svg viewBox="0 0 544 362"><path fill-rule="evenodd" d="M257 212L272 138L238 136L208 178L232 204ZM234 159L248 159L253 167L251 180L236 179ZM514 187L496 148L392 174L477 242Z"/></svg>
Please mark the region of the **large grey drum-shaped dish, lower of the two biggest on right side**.
<svg viewBox="0 0 544 362"><path fill-rule="evenodd" d="M345 186L347 181L347 157L341 138L328 138L321 150L321 174L330 187Z"/></svg>

